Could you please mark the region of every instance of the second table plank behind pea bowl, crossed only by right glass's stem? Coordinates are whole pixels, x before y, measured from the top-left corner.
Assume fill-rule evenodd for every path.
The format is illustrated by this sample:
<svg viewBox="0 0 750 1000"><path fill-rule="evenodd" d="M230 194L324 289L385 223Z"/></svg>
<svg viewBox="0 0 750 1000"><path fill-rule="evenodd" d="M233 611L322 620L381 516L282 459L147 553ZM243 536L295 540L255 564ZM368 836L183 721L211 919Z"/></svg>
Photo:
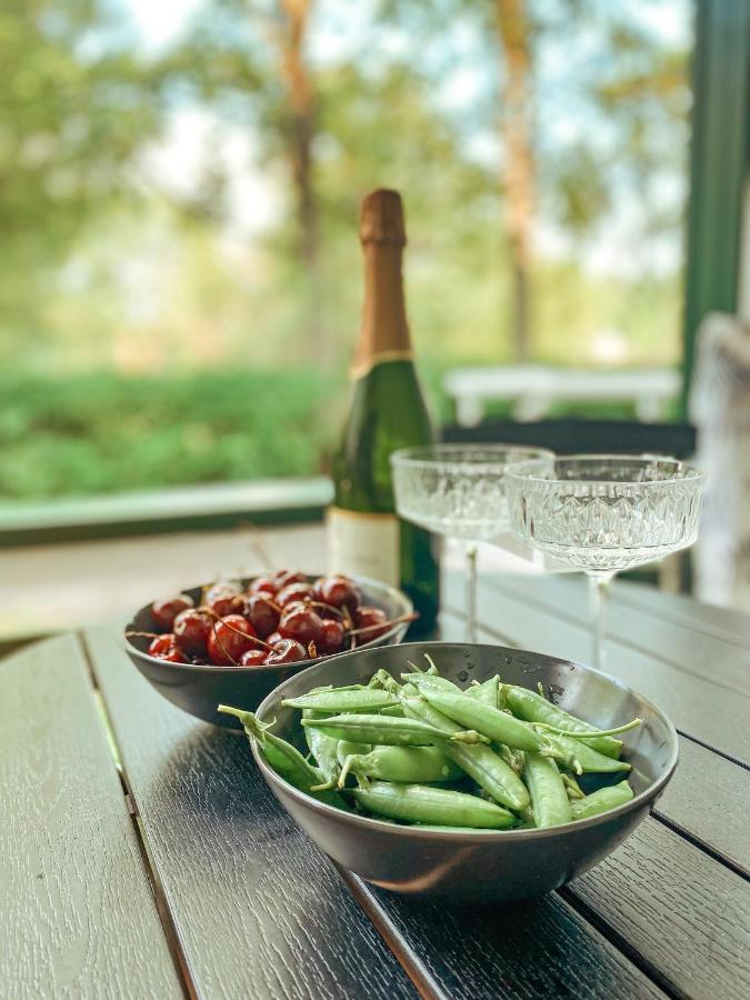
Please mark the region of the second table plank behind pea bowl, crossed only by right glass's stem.
<svg viewBox="0 0 750 1000"><path fill-rule="evenodd" d="M496 582L502 592L508 578L498 581L497 576L490 573L482 577L483 587L492 589ZM557 613L564 609L571 621L590 630L588 588L580 577L526 577L513 586L519 594L540 608ZM750 696L750 642L721 629L707 631L708 626L698 614L693 622L670 616L669 598L673 599L674 594L663 594L651 588L650 600L641 596L633 601L631 593L644 589L624 582L612 587L607 622L609 639L617 639L659 663L669 663L686 673ZM692 604L701 608L696 601Z"/></svg>

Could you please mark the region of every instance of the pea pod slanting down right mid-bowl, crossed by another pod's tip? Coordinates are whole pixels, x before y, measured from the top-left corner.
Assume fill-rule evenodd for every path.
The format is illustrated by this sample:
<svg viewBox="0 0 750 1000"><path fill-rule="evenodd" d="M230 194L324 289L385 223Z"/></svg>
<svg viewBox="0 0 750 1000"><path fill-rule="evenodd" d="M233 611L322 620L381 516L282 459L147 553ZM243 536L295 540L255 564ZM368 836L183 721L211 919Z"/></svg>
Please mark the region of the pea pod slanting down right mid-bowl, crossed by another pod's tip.
<svg viewBox="0 0 750 1000"><path fill-rule="evenodd" d="M401 703L409 718L428 722L433 728L440 729L446 737L450 737L460 728L421 698L402 696ZM520 811L529 804L529 792L521 779L489 747L463 746L446 739L440 749L496 802L514 811Z"/></svg>

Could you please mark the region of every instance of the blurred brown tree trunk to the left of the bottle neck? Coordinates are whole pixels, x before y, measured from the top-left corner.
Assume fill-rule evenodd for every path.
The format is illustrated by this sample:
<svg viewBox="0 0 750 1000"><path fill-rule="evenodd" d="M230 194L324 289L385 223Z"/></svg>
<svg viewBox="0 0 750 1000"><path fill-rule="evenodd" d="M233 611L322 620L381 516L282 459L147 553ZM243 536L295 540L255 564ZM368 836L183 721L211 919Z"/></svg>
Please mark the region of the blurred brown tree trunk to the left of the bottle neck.
<svg viewBox="0 0 750 1000"><path fill-rule="evenodd" d="M320 361L328 356L328 344L321 319L318 203L313 183L316 97L304 57L312 0L278 2L281 17L277 38L289 112L287 150L297 202L298 254L304 266L308 288L308 346L310 356Z"/></svg>

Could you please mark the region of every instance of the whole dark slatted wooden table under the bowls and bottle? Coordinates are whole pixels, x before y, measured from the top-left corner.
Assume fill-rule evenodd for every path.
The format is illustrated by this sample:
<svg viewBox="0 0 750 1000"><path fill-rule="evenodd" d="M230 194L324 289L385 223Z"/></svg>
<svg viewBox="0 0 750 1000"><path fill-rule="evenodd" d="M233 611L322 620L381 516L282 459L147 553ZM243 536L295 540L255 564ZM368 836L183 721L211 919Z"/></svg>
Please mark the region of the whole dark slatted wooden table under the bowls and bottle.
<svg viewBox="0 0 750 1000"><path fill-rule="evenodd" d="M482 640L588 659L578 580L484 574L479 617ZM750 618L619 584L610 626L609 671L680 732L677 774L604 863L506 907L338 871L244 740L156 694L114 628L4 660L0 996L748 998Z"/></svg>

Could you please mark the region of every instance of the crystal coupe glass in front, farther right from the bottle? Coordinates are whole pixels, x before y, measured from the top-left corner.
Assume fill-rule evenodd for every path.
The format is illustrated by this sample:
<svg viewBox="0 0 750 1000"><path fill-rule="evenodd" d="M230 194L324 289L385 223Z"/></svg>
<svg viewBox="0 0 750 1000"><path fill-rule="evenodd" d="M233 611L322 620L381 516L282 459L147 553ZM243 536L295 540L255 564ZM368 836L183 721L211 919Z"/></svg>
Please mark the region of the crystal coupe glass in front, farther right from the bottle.
<svg viewBox="0 0 750 1000"><path fill-rule="evenodd" d="M506 470L511 528L589 577L594 667L603 663L610 580L696 541L703 483L698 469L651 454L573 454Z"/></svg>

